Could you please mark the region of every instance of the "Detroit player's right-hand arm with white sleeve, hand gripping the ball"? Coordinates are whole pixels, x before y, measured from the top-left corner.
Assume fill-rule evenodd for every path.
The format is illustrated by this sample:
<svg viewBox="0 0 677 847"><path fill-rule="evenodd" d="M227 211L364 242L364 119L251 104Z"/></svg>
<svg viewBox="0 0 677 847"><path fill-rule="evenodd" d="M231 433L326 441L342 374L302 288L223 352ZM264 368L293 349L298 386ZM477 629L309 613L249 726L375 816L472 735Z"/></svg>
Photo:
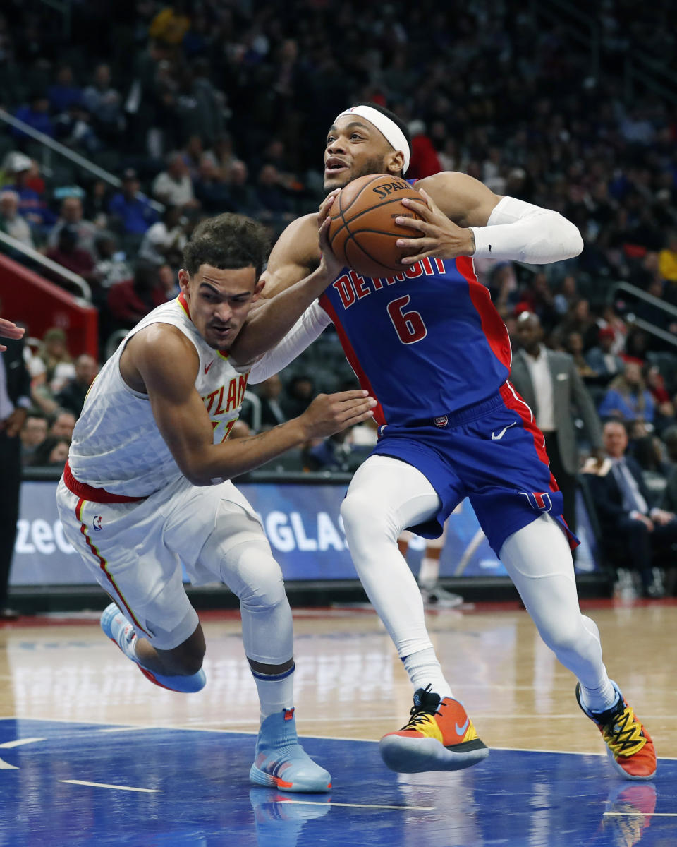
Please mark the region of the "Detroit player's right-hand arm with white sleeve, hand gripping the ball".
<svg viewBox="0 0 677 847"><path fill-rule="evenodd" d="M426 200L416 203L423 220L398 218L412 230L412 239L398 246L410 247L403 263L427 256L513 259L548 264L577 256L583 249L581 233L551 209L534 206L515 197L499 197L467 174L445 172L416 183ZM404 206L413 205L403 200Z"/></svg>

